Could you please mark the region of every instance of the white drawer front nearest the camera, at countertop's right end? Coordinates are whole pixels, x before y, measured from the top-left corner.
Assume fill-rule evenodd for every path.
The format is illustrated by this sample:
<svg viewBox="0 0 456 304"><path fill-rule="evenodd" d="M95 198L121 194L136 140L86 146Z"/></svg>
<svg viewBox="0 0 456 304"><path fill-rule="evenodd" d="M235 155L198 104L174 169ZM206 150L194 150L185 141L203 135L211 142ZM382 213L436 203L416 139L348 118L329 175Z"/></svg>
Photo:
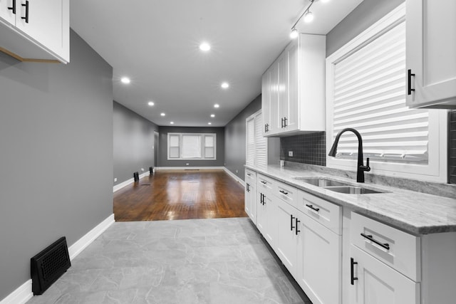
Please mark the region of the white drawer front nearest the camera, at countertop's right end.
<svg viewBox="0 0 456 304"><path fill-rule="evenodd" d="M353 245L420 282L420 238L351 213L350 240Z"/></svg>

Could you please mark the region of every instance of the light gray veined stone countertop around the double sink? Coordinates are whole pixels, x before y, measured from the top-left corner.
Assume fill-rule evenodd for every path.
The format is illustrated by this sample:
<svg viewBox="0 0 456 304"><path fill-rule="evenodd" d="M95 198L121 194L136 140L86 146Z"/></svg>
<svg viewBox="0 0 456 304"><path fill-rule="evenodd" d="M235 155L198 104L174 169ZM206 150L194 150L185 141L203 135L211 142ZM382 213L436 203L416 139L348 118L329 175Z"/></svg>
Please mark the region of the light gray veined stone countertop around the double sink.
<svg viewBox="0 0 456 304"><path fill-rule="evenodd" d="M456 231L456 199L368 182L360 184L355 179L333 177L331 174L295 167L279 167L278 165L269 165L266 168L248 165L245 167L319 196L322 199L348 207L359 214L396 226L411 234L435 234ZM295 179L296 177L331 178L353 186L388 193L342 194L299 181Z"/></svg>

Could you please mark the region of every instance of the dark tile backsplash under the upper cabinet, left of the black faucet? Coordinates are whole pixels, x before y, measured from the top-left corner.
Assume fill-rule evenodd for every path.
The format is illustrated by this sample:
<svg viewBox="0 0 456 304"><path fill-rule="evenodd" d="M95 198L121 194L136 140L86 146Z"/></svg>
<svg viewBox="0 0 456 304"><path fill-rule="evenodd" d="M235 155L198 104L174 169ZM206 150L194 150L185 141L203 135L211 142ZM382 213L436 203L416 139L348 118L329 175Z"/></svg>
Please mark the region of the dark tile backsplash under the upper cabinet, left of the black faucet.
<svg viewBox="0 0 456 304"><path fill-rule="evenodd" d="M293 156L289 156L289 152ZM326 132L280 138L280 159L287 162L326 166Z"/></svg>

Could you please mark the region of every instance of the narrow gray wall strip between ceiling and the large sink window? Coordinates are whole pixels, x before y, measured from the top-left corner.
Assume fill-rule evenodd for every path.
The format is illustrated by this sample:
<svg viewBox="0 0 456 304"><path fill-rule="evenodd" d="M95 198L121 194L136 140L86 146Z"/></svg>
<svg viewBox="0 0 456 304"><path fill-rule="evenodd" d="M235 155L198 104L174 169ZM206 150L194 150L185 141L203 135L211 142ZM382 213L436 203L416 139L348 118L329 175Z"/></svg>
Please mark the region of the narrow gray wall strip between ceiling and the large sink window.
<svg viewBox="0 0 456 304"><path fill-rule="evenodd" d="M326 57L355 38L405 0L364 0L326 35Z"/></svg>

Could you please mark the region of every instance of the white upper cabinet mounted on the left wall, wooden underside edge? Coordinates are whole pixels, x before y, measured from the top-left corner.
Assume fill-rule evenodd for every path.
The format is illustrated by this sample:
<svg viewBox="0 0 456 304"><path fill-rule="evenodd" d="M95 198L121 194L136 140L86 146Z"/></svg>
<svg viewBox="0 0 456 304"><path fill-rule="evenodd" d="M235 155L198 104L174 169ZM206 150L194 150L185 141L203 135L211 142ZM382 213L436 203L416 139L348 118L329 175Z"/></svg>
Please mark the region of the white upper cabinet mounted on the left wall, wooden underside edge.
<svg viewBox="0 0 456 304"><path fill-rule="evenodd" d="M70 61L69 0L0 0L0 47L24 61Z"/></svg>

